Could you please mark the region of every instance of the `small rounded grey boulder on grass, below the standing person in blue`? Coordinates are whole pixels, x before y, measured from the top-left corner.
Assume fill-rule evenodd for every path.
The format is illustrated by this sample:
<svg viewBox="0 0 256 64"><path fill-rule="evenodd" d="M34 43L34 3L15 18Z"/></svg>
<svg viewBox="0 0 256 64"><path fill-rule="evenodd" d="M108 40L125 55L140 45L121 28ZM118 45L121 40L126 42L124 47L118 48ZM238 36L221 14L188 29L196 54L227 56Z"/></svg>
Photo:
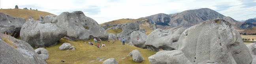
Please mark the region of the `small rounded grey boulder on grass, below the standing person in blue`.
<svg viewBox="0 0 256 64"><path fill-rule="evenodd" d="M129 56L131 56L132 60L135 62L142 62L144 60L144 58L141 56L141 53L139 53L139 50L137 49L130 52Z"/></svg>

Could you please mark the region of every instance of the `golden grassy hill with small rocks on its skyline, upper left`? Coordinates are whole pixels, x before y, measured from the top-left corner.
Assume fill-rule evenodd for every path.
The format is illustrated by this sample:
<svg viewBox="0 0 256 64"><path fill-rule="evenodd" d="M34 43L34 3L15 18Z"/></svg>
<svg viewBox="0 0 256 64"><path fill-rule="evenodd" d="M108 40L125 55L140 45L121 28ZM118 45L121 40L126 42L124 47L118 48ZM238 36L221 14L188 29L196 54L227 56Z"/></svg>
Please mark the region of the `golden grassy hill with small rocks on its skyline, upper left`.
<svg viewBox="0 0 256 64"><path fill-rule="evenodd" d="M30 16L32 16L33 19L38 20L39 16L54 15L52 13L48 13L45 11L26 10L26 9L0 9L0 12L9 14L14 17L23 17L26 20Z"/></svg>

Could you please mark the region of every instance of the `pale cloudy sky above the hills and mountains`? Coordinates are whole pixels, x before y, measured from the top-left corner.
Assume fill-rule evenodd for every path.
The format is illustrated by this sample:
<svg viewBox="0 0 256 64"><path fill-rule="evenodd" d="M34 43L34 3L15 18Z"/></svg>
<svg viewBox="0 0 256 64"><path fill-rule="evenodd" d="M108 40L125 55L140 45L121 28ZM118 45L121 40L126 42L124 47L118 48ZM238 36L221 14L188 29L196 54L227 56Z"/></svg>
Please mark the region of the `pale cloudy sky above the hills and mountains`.
<svg viewBox="0 0 256 64"><path fill-rule="evenodd" d="M210 8L237 21L256 17L256 0L0 0L0 8L32 8L59 15L83 11L99 24L117 19Z"/></svg>

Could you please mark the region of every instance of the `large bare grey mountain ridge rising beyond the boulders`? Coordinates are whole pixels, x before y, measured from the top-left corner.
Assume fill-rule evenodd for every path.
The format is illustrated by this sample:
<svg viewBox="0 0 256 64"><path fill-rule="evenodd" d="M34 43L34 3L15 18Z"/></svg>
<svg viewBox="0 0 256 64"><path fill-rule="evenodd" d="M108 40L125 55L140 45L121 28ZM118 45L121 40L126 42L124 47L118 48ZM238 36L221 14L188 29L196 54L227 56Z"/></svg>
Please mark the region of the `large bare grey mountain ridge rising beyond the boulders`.
<svg viewBox="0 0 256 64"><path fill-rule="evenodd" d="M158 25L168 24L170 26L192 26L210 19L224 19L232 24L239 23L231 17L226 17L209 8L186 10L182 11L181 13L174 13L169 15L159 13L145 18L149 19L151 23L156 23Z"/></svg>

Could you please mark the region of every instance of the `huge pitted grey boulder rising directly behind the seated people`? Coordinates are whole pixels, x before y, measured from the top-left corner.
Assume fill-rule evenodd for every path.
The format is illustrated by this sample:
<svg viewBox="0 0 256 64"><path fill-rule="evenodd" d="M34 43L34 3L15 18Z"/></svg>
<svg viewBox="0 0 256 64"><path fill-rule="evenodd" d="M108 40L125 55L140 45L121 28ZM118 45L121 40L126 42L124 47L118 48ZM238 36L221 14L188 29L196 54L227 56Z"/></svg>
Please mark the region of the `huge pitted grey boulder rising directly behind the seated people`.
<svg viewBox="0 0 256 64"><path fill-rule="evenodd" d="M53 19L53 23L68 31L70 40L88 40L90 36L108 39L108 33L96 21L86 17L82 11L63 12Z"/></svg>

